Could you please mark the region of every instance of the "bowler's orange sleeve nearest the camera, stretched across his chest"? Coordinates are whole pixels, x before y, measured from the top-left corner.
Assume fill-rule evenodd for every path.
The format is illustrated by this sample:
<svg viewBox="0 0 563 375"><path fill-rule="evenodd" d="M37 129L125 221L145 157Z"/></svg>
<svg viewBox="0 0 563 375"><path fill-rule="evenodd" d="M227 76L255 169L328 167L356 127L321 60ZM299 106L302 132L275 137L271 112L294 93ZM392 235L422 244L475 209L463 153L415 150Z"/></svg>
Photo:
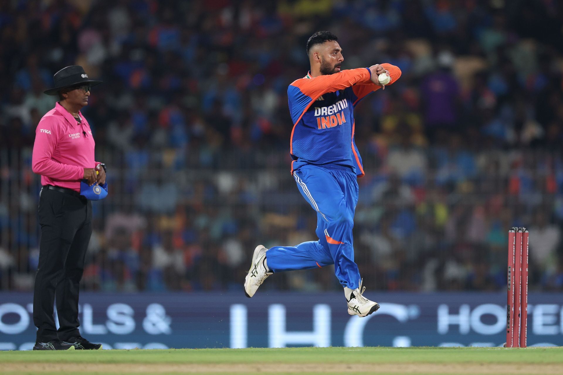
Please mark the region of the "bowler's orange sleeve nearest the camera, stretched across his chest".
<svg viewBox="0 0 563 375"><path fill-rule="evenodd" d="M291 85L299 88L303 94L312 100L316 100L322 94L343 90L358 82L368 81L370 76L369 69L360 67L358 69L342 70L336 74L298 79Z"/></svg>

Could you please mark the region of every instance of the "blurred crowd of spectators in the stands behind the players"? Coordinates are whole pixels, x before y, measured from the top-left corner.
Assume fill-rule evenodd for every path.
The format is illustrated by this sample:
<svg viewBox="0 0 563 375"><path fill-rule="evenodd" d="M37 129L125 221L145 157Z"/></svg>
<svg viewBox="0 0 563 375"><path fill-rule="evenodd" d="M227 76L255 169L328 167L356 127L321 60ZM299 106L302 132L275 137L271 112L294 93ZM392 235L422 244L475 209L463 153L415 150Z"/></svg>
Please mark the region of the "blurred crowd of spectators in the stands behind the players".
<svg viewBox="0 0 563 375"><path fill-rule="evenodd" d="M289 174L287 86L307 38L399 82L355 110L356 261L378 290L502 290L508 228L530 288L563 290L563 6L557 0L11 0L0 3L0 288L37 266L35 127L52 75L103 84L83 114L108 165L83 286L240 290L260 243L314 240ZM336 290L330 267L278 290Z"/></svg>

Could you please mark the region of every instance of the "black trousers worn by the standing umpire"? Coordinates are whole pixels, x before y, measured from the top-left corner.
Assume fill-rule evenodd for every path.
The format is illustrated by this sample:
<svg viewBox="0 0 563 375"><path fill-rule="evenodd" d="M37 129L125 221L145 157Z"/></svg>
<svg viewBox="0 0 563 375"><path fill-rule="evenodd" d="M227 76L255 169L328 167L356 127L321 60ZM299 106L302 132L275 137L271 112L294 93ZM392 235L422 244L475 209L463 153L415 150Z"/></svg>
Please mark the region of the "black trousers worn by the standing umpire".
<svg viewBox="0 0 563 375"><path fill-rule="evenodd" d="M39 197L39 265L33 291L37 342L66 341L78 336L78 292L84 257L92 235L92 203L43 188ZM53 304L57 301L59 330Z"/></svg>

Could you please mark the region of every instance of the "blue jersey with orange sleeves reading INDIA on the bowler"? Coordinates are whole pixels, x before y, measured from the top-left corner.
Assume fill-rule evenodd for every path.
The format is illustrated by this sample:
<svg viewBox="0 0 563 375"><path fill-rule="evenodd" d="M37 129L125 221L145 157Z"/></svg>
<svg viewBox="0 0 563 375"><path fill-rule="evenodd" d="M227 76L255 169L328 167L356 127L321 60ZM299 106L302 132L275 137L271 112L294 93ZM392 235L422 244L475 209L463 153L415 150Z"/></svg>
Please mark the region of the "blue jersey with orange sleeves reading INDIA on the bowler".
<svg viewBox="0 0 563 375"><path fill-rule="evenodd" d="M391 64L381 64L394 83L401 71ZM354 107L381 86L370 81L367 68L342 70L339 73L311 78L309 74L294 81L287 89L291 132L292 173L306 164L327 168L350 168L362 177L364 169L354 142Z"/></svg>

